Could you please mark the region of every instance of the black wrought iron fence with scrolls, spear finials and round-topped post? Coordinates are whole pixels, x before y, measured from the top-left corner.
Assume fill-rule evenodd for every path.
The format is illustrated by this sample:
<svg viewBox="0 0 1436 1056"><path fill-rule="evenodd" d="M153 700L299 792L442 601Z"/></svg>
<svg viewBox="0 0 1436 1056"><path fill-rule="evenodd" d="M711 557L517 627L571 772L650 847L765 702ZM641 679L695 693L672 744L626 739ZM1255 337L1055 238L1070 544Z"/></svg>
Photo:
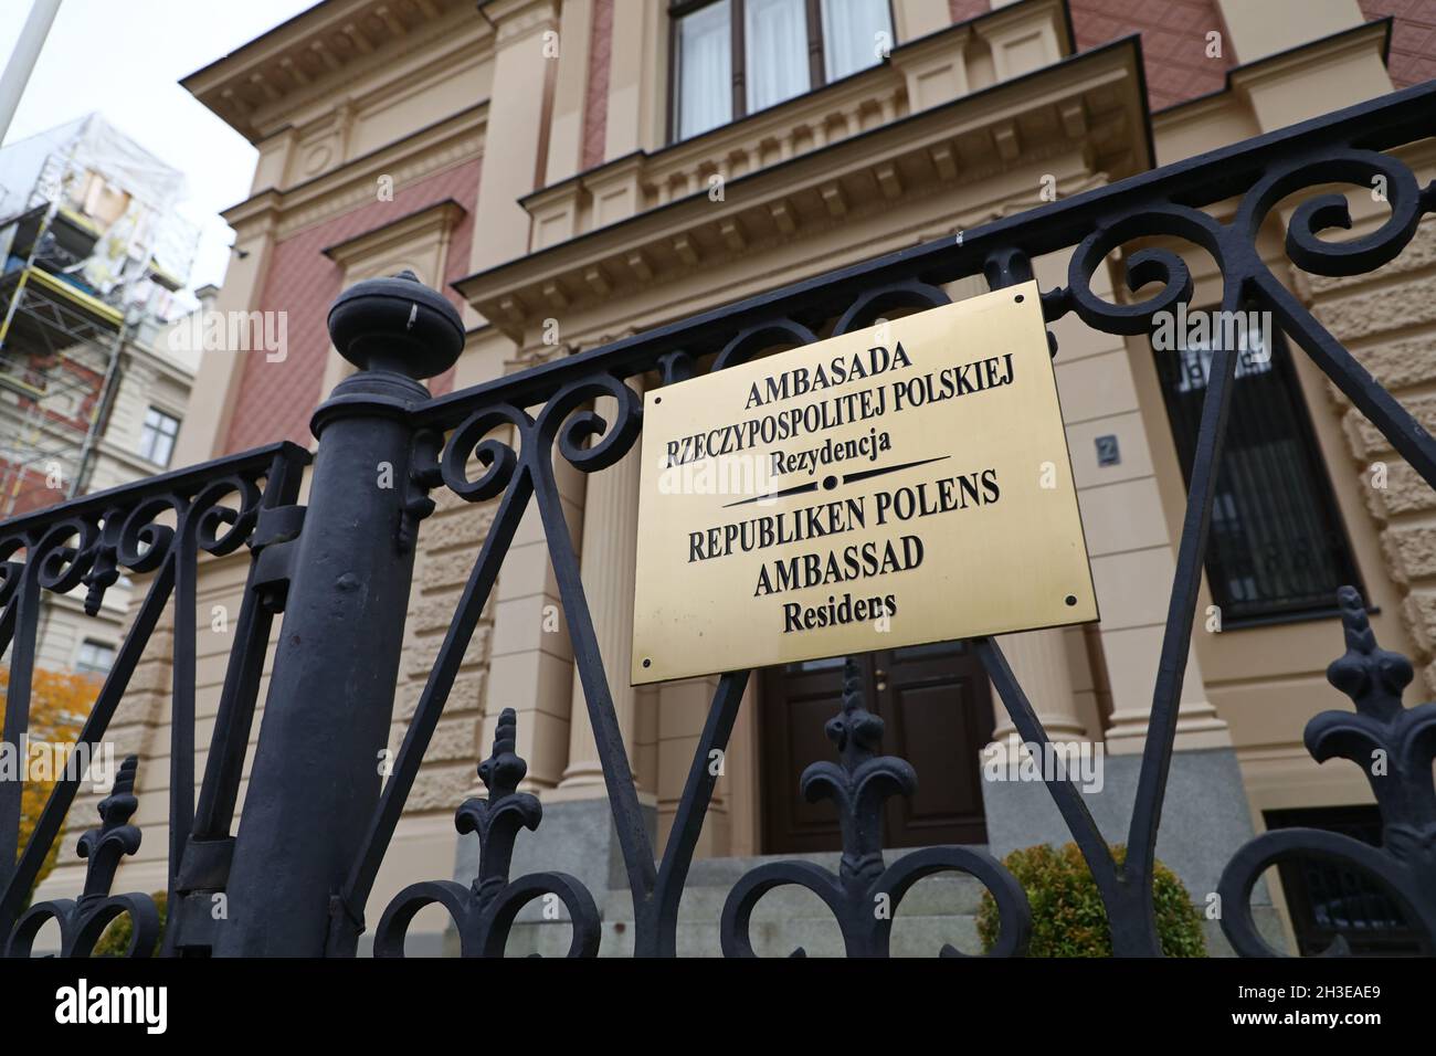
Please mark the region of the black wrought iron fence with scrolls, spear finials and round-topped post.
<svg viewBox="0 0 1436 1056"><path fill-rule="evenodd" d="M1420 218L1436 210L1436 190L1420 187L1393 154L1436 128L1436 85L1393 93L1212 154L1124 180L1031 213L999 220L962 237L827 273L738 305L642 333L511 376L431 398L421 378L447 369L462 348L457 313L432 290L408 277L360 283L330 312L336 348L360 371L343 381L314 415L319 437L307 507L296 504L307 455L279 444L165 474L0 524L3 615L0 641L11 649L4 737L24 734L34 667L42 592L89 588L90 611L122 570L149 572L148 593L119 651L80 738L105 736L141 651L165 603L175 608L171 721L169 924L167 954L352 955L366 921L363 907L418 774L425 749L452 690L465 647L490 598L518 520L536 503L561 593L574 664L622 846L635 909L635 951L673 955L678 905L717 777L707 766L734 727L747 671L724 675L694 753L672 832L656 856L645 830L638 792L607 688L603 658L579 578L579 560L559 501L556 458L584 473L613 466L640 430L640 399L626 379L656 371L663 384L708 369L721 371L780 346L811 342L820 332L844 333L885 313L948 300L945 283L985 274L997 289L1030 280L1030 261L1073 249L1067 284L1043 293L1048 322L1076 315L1114 335L1137 335L1159 312L1189 303L1193 282L1169 249L1126 257L1134 303L1094 292L1103 260L1127 243L1160 236L1196 246L1221 269L1225 310L1271 312L1279 329L1351 399L1427 481L1436 483L1436 444L1427 431L1373 381L1367 371L1313 318L1268 269L1258 231L1274 207L1305 195L1291 213L1285 251L1300 269L1324 276L1371 272L1412 240ZM1324 185L1384 184L1384 221L1346 241L1323 231L1350 227L1348 205ZM1211 208L1236 201L1229 218ZM1223 214L1225 216L1225 214ZM831 322L831 328L829 323ZM1054 342L1054 355L1058 355ZM1070 782L1048 780L1051 796L1096 878L1119 954L1157 955L1152 902L1153 851L1162 818L1202 560L1208 545L1215 480L1232 405L1238 351L1212 349L1211 369L1189 473L1189 496L1176 573L1153 687L1150 726L1119 865ZM616 402L606 421L590 408ZM388 461L404 487L379 490L356 481ZM477 463L477 477L470 467ZM497 513L458 601L444 644L395 760L381 787L373 769L392 715L404 613L414 547L428 493L448 488L468 501L498 500ZM194 612L200 552L251 552L250 575L210 744L208 764L194 784ZM1402 690L1409 661L1380 649L1356 590L1338 603L1346 655L1330 678L1351 697L1356 713L1325 713L1307 728L1313 756L1364 764L1373 747L1389 754L1386 776L1369 773L1381 810L1384 846L1314 829L1279 829L1256 838L1228 865L1221 882L1222 927L1241 954L1272 953L1252 922L1249 897L1262 871L1298 853L1354 868L1390 897L1436 947L1436 704L1406 710ZM253 760L244 818L234 833L234 805L246 761L260 668L270 624L284 613L269 704ZM997 642L972 642L1024 741L1047 737ZM335 693L342 687L343 693ZM872 914L872 894L896 908L922 876L956 871L976 876L1001 917L995 953L1018 954L1028 931L1021 888L992 858L966 848L910 852L892 865L882 853L882 802L912 790L912 767L880 756L882 721L849 687L843 713L829 724L840 761L820 763L804 789L836 800L843 820L843 856L836 875L808 863L768 863L734 888L722 914L722 948L751 954L748 918L778 885L816 892L837 918L850 955L885 955L890 920ZM424 905L454 917L470 955L498 955L518 909L543 894L557 895L573 921L572 954L599 945L593 897L572 876L534 874L510 879L510 852L523 828L540 820L538 802L517 790L526 764L514 753L514 717L498 723L494 750L480 767L490 796L464 803L461 830L478 833L481 865L470 886L452 881L415 885L378 922L375 950L402 953L404 931ZM154 940L154 907L144 895L111 897L119 856L134 849L128 826L135 809L134 767L102 805L103 825L86 835L89 881L76 899L57 899L22 914L40 862L60 830L76 783L62 780L23 853L17 855L19 797L0 784L0 938L11 955L30 953L47 920L60 922L63 950L83 955L105 922L135 917L132 953ZM215 921L210 905L224 892L231 911ZM943 953L956 953L945 948Z"/></svg>

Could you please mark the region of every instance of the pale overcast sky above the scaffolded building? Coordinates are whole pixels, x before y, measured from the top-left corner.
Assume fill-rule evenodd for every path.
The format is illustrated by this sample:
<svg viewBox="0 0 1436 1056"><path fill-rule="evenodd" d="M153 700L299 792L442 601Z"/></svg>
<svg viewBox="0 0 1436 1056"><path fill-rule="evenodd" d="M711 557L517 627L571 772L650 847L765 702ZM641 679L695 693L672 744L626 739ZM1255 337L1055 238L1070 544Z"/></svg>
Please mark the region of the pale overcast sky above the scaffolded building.
<svg viewBox="0 0 1436 1056"><path fill-rule="evenodd" d="M190 287L220 284L234 233L217 216L250 191L248 141L180 88L180 78L292 19L314 0L63 0L4 142L98 111L185 174L181 213L204 231ZM30 0L0 0L9 62Z"/></svg>

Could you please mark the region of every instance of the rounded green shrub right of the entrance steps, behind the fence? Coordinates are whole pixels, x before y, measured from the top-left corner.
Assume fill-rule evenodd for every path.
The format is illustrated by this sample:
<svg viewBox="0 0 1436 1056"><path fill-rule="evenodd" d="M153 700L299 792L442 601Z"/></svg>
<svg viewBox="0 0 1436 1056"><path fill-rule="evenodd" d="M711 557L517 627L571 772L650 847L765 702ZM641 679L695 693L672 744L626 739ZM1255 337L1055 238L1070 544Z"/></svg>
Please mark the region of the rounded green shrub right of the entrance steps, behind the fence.
<svg viewBox="0 0 1436 1056"><path fill-rule="evenodd" d="M1113 846L1111 856L1122 865L1127 849ZM1076 843L1060 851L1047 843L1014 851L1002 859L1002 865L1022 885L1032 907L1028 957L1111 957L1107 909ZM1162 862L1153 872L1152 895L1162 951L1167 957L1206 957L1202 914L1192 905L1182 881ZM978 908L978 937L984 953L997 942L998 928L997 902L984 892Z"/></svg>

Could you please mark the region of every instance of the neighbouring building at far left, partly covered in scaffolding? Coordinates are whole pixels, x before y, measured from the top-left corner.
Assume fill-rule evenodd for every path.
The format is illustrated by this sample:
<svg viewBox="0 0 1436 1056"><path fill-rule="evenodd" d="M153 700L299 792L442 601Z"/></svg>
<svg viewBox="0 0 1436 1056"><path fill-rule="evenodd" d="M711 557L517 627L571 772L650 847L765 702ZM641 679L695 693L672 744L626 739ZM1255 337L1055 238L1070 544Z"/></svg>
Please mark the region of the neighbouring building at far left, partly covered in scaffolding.
<svg viewBox="0 0 1436 1056"><path fill-rule="evenodd" d="M182 187L98 114L0 149L0 517L169 468L197 366L167 339L200 234ZM103 675L129 598L46 595L36 664Z"/></svg>

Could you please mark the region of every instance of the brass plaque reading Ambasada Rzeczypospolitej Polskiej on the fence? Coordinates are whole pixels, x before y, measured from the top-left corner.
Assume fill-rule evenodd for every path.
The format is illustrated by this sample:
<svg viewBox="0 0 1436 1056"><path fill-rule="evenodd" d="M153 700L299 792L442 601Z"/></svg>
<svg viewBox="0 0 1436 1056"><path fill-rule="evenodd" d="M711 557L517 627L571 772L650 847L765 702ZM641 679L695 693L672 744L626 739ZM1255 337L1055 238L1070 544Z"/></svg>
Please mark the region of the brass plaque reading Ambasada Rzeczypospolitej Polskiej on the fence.
<svg viewBox="0 0 1436 1056"><path fill-rule="evenodd" d="M1037 283L648 394L633 685L1097 619Z"/></svg>

